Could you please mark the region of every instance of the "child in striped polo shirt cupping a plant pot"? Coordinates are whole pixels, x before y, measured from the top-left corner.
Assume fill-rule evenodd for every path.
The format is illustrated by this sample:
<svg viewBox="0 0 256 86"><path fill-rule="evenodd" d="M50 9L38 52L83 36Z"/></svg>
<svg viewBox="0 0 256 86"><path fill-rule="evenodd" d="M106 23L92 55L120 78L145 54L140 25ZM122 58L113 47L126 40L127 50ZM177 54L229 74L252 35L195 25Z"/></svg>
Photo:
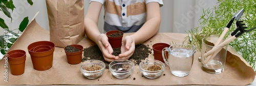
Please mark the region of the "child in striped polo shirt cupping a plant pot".
<svg viewBox="0 0 256 86"><path fill-rule="evenodd" d="M134 53L135 45L150 39L158 33L162 0L91 0L84 26L87 37L100 48L104 60L128 60ZM123 38L121 54L112 55L108 37L98 30L98 18L104 6L104 31L119 30L124 33L135 32Z"/></svg>

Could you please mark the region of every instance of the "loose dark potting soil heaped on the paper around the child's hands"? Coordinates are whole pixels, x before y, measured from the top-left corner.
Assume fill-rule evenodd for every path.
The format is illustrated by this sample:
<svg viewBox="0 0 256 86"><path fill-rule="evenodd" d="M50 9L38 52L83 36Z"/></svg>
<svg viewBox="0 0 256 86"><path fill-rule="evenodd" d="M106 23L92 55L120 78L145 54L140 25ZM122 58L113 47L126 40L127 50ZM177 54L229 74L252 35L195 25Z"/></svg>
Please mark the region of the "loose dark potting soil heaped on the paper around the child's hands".
<svg viewBox="0 0 256 86"><path fill-rule="evenodd" d="M114 48L113 50L113 55L117 56L121 53L120 48ZM110 63L104 60L102 52L100 51L98 45L84 48L83 52L84 57L82 59L82 62L87 60L100 60L105 63L106 69L109 69ZM135 65L139 65L139 63L142 60L145 60L150 54L152 54L152 49L149 47L149 45L138 44L135 46L135 51L129 60L132 61Z"/></svg>

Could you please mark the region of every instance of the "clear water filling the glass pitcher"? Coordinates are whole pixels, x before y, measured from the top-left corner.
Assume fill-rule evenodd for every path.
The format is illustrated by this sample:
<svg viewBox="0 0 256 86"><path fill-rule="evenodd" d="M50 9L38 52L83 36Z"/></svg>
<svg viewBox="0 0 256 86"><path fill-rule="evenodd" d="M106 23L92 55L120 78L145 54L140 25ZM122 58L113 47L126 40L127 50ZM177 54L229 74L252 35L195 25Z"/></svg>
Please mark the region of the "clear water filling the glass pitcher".
<svg viewBox="0 0 256 86"><path fill-rule="evenodd" d="M178 77L189 74L193 64L194 51L186 48L173 48L169 54L170 71Z"/></svg>

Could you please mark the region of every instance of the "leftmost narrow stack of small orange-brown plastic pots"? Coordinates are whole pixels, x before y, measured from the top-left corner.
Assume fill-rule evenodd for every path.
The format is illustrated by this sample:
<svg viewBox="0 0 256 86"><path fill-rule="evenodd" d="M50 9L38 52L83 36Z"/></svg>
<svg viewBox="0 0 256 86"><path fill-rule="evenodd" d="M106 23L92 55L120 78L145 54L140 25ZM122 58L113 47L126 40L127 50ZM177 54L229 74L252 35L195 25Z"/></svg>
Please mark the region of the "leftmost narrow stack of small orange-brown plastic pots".
<svg viewBox="0 0 256 86"><path fill-rule="evenodd" d="M12 75L23 74L25 71L26 52L16 49L9 51L7 54Z"/></svg>

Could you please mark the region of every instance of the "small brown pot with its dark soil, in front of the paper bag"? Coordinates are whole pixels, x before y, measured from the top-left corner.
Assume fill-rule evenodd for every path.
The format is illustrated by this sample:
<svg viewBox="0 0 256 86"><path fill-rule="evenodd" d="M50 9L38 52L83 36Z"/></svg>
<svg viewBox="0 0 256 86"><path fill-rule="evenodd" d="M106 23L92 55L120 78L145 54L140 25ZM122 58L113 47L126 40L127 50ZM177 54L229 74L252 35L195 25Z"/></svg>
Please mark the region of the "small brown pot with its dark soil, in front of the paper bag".
<svg viewBox="0 0 256 86"><path fill-rule="evenodd" d="M68 45L64 50L69 64L75 65L81 63L83 46L78 44Z"/></svg>

